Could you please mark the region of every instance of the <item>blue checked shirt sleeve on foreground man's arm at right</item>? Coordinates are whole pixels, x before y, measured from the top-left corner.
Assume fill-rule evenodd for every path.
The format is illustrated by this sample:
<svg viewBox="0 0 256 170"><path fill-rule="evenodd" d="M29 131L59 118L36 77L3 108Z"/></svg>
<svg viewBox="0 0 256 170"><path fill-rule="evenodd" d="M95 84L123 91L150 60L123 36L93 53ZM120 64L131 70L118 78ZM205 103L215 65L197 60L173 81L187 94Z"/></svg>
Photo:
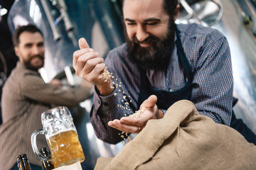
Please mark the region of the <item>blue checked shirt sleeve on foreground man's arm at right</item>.
<svg viewBox="0 0 256 170"><path fill-rule="evenodd" d="M194 70L191 101L200 114L230 125L233 74L228 41L216 30L204 44Z"/></svg>

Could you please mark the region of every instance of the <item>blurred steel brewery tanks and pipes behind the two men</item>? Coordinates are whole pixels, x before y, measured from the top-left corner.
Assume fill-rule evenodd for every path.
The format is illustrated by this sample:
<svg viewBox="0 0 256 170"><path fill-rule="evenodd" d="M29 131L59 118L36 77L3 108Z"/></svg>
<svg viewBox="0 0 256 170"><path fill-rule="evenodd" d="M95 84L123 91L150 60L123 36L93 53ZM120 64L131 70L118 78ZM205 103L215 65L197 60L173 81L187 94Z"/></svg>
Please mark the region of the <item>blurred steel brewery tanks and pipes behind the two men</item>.
<svg viewBox="0 0 256 170"><path fill-rule="evenodd" d="M230 44L234 91L239 99L234 111L256 132L256 1L180 0L176 23L199 23L220 30ZM15 28L33 23L43 32L45 67L40 72L48 82L53 78L76 86L72 56L79 38L106 57L124 42L122 0L0 0L0 88L16 66L11 35ZM0 89L1 90L1 89ZM93 169L98 157L112 157L122 148L95 137L89 121L92 96L70 108L85 152L83 167ZM0 120L1 123L1 120Z"/></svg>

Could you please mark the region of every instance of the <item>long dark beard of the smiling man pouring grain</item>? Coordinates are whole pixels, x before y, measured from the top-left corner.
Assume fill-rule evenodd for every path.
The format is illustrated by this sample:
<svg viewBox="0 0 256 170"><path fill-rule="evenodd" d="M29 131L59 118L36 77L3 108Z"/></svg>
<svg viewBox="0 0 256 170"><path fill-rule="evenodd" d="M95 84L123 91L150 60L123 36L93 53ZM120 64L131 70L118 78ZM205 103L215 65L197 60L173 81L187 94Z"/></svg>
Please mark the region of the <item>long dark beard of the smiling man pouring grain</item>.
<svg viewBox="0 0 256 170"><path fill-rule="evenodd" d="M164 40L160 40L154 35L149 35L149 38L143 41L151 43L150 47L140 47L136 36L132 40L129 40L128 36L126 36L129 60L137 62L139 67L143 69L166 69L174 48L174 34L175 23L174 18L171 18Z"/></svg>

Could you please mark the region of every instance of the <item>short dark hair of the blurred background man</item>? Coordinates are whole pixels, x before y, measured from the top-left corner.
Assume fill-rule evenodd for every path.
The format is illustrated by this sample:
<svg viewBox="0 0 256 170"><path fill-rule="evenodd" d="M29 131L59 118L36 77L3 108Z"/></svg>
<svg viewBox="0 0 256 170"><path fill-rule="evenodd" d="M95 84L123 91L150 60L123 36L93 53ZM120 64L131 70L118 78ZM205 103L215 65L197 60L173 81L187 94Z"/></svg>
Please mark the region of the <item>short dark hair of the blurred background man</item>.
<svg viewBox="0 0 256 170"><path fill-rule="evenodd" d="M29 33L40 33L43 36L43 33L41 32L41 30L39 30L36 26L32 25L32 24L28 24L27 26L19 26L18 28L16 28L16 30L14 30L14 35L13 35L13 42L14 42L14 46L18 46L20 43L19 37L21 35L21 33L23 32L29 32Z"/></svg>

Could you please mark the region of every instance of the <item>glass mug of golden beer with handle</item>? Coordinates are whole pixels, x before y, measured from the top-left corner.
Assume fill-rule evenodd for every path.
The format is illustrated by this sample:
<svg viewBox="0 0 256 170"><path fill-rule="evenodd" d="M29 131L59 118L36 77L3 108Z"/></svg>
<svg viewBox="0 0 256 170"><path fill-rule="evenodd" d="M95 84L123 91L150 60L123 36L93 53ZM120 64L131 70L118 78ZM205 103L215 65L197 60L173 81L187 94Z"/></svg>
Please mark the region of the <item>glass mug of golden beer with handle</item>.
<svg viewBox="0 0 256 170"><path fill-rule="evenodd" d="M85 160L78 133L68 108L59 106L45 111L41 115L41 120L43 129L35 130L31 135L33 152L40 159L48 160L48 157L44 157L38 151L36 145L36 135L38 134L46 135L51 152L51 161L55 168Z"/></svg>

